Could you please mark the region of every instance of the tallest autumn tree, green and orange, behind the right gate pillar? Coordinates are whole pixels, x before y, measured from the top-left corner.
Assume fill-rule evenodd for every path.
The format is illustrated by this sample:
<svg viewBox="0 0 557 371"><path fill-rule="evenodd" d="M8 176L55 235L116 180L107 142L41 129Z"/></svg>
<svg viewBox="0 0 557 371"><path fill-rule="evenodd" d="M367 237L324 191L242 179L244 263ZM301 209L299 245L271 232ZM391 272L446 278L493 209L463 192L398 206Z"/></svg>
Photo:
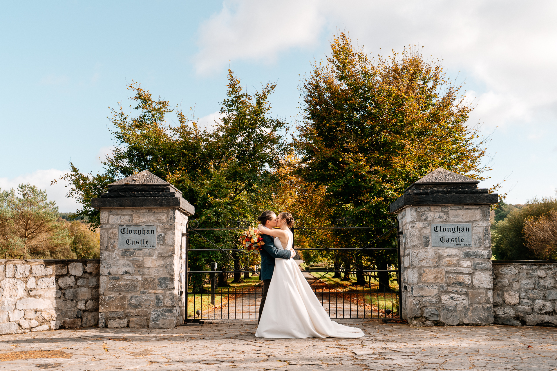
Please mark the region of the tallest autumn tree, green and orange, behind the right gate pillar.
<svg viewBox="0 0 557 371"><path fill-rule="evenodd" d="M484 142L466 123L472 107L439 61L406 48L371 60L340 33L326 63L315 63L302 82L297 171L305 182L326 187L334 217L391 223L388 205L437 167L486 179ZM392 247L393 239L378 246ZM378 269L397 261L395 254L369 258Z"/></svg>

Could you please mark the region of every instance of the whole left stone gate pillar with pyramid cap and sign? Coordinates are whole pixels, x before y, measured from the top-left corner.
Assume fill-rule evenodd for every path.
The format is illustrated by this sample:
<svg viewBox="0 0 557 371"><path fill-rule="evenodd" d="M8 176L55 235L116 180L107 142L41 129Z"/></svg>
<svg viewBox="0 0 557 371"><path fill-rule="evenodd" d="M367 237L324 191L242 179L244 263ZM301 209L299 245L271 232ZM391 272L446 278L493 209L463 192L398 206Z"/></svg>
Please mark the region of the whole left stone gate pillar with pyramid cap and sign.
<svg viewBox="0 0 557 371"><path fill-rule="evenodd" d="M184 318L185 231L194 207L143 171L92 200L101 212L99 327L174 328Z"/></svg>

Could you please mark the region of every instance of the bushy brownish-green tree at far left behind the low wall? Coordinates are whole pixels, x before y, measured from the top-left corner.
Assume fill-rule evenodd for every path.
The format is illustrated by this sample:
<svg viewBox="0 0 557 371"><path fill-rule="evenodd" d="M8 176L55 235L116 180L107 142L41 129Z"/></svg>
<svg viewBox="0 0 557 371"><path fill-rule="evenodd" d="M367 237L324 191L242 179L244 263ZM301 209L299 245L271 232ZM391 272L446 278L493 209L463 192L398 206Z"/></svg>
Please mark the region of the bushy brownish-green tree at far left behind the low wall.
<svg viewBox="0 0 557 371"><path fill-rule="evenodd" d="M70 236L46 191L20 184L0 192L0 252L6 259L52 259L70 255Z"/></svg>

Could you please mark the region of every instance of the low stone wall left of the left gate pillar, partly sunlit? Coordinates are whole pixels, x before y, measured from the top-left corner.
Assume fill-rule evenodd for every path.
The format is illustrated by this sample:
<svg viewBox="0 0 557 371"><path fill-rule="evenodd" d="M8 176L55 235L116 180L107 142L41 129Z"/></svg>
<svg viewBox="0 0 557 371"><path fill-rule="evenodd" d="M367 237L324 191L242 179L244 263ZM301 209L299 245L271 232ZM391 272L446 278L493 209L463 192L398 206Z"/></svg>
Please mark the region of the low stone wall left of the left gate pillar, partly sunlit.
<svg viewBox="0 0 557 371"><path fill-rule="evenodd" d="M99 259L0 260L0 334L92 327Z"/></svg>

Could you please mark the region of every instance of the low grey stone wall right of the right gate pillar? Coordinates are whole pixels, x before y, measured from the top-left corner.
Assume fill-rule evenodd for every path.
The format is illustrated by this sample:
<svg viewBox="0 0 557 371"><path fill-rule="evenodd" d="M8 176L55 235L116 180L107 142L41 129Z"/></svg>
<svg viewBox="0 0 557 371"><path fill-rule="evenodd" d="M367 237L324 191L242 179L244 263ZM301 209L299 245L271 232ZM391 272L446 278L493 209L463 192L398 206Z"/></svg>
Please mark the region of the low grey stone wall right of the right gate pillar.
<svg viewBox="0 0 557 371"><path fill-rule="evenodd" d="M557 263L493 261L494 321L505 325L557 325Z"/></svg>

